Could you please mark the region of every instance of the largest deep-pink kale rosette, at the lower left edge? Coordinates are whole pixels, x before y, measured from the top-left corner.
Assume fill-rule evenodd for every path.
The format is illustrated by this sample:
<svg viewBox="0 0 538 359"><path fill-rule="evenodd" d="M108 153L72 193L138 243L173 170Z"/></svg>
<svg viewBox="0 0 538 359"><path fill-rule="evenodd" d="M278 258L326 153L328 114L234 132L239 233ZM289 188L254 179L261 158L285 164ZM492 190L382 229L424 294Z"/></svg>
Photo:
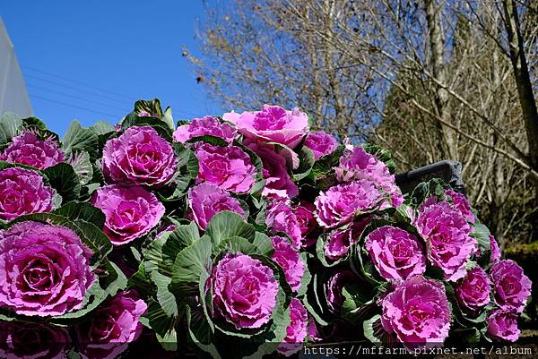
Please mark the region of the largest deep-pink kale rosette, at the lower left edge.
<svg viewBox="0 0 538 359"><path fill-rule="evenodd" d="M66 227L21 222L0 231L0 306L48 317L82 308L92 252Z"/></svg>

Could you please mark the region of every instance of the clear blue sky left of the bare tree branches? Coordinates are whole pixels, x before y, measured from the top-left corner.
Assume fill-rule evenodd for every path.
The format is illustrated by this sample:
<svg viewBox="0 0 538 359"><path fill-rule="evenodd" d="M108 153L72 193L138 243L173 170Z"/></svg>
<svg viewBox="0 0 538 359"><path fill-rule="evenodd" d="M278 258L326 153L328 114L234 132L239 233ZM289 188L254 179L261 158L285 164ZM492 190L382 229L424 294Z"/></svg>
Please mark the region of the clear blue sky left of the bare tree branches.
<svg viewBox="0 0 538 359"><path fill-rule="evenodd" d="M0 0L34 115L52 131L119 121L138 98L160 98L174 118L219 115L182 47L195 53L201 0Z"/></svg>

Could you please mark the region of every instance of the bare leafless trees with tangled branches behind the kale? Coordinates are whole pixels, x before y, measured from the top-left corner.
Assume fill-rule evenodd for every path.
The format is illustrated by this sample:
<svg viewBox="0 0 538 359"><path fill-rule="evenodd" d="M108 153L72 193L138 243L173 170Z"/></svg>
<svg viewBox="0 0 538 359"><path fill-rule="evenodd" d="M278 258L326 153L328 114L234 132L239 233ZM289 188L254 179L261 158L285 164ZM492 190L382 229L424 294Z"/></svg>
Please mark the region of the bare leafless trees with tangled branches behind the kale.
<svg viewBox="0 0 538 359"><path fill-rule="evenodd" d="M531 0L281 0L208 6L187 56L225 109L299 106L315 127L441 158L499 239L528 241L538 184L538 5Z"/></svg>

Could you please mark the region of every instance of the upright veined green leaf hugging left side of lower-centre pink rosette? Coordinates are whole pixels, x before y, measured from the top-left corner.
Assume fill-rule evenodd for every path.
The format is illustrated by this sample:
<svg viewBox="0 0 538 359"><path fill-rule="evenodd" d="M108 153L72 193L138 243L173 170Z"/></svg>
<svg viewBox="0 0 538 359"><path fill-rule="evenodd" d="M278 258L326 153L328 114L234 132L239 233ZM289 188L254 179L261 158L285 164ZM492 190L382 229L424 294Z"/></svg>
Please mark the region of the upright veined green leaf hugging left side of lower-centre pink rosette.
<svg viewBox="0 0 538 359"><path fill-rule="evenodd" d="M178 253L172 268L170 289L174 295L181 297L197 292L202 272L211 267L211 238L204 235L194 244Z"/></svg>

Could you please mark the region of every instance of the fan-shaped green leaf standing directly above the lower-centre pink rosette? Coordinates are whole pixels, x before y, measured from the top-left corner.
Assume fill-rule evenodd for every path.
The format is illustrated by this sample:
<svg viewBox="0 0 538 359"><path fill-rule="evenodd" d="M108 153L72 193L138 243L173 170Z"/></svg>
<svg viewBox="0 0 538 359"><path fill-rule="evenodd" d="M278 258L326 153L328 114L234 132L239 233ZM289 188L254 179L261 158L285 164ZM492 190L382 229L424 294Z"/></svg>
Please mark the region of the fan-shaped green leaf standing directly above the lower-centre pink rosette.
<svg viewBox="0 0 538 359"><path fill-rule="evenodd" d="M211 237L214 246L218 246L227 238L239 236L254 241L255 228L245 222L239 214L228 210L217 213L211 218L205 234Z"/></svg>

